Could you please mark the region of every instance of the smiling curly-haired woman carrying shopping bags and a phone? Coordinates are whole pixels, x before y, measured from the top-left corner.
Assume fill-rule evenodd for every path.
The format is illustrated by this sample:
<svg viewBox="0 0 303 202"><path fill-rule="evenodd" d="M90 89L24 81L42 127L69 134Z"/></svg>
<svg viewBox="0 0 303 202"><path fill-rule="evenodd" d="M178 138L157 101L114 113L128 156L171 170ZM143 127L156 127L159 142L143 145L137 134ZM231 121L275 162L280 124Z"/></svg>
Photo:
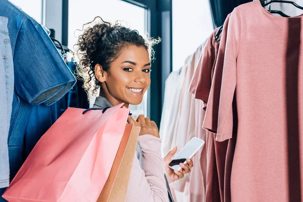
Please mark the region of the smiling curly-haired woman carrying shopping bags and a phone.
<svg viewBox="0 0 303 202"><path fill-rule="evenodd" d="M125 103L126 108L130 104L139 105L150 84L152 47L160 40L144 39L136 30L119 23L111 25L101 18L100 22L95 19L92 27L83 28L76 44L80 59L78 74L84 79L84 87L89 94L99 90L93 108L103 109L120 103ZM155 122L140 115L136 121L129 116L128 123L141 130L126 201L168 201L165 171L171 181L181 179L190 172L192 161L181 164L181 171L173 171L168 164L177 148L162 159L161 138Z"/></svg>

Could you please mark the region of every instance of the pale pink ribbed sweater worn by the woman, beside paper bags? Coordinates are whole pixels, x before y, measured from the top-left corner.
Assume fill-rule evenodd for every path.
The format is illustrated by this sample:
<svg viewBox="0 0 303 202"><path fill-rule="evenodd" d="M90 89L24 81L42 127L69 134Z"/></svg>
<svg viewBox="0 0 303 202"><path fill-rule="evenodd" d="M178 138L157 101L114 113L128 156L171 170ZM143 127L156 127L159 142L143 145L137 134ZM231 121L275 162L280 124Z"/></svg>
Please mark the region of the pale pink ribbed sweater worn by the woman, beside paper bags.
<svg viewBox="0 0 303 202"><path fill-rule="evenodd" d="M143 170L134 156L126 201L169 201L165 182L165 164L161 157L161 138L140 135L138 141L143 152Z"/></svg>

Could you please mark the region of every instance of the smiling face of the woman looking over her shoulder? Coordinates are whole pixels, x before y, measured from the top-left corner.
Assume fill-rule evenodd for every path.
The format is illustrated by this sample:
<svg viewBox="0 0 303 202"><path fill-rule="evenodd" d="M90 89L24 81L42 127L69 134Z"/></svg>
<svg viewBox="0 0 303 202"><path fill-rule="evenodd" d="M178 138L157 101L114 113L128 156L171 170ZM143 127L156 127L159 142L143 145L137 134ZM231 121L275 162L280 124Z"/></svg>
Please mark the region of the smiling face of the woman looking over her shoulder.
<svg viewBox="0 0 303 202"><path fill-rule="evenodd" d="M150 61L146 49L129 45L111 63L110 71L103 72L102 88L112 105L139 105L150 84ZM98 79L99 80L99 79Z"/></svg>

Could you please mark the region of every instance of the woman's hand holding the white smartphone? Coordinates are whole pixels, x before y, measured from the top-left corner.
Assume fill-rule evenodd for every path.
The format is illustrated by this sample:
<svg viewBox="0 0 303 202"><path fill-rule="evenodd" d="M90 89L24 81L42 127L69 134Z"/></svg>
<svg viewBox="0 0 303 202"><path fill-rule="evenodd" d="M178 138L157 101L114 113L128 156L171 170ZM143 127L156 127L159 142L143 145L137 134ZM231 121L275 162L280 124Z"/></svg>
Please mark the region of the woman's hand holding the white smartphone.
<svg viewBox="0 0 303 202"><path fill-rule="evenodd" d="M168 165L172 162L172 157L176 154L176 152L177 152L177 146L175 146L172 150L170 150L168 154L164 157L165 170L172 181L182 179L185 174L190 173L190 169L193 167L192 160L187 159L186 164L183 163L180 164L182 168L180 171L171 169Z"/></svg>

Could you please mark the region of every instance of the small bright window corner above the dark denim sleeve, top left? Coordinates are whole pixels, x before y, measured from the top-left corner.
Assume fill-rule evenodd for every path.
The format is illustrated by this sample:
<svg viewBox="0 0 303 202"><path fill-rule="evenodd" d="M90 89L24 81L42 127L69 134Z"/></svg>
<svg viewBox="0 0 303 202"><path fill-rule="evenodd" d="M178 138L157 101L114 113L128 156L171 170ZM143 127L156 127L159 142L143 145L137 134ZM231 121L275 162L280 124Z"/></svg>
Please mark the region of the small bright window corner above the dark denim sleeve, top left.
<svg viewBox="0 0 303 202"><path fill-rule="evenodd" d="M24 13L42 23L42 0L31 0L30 4L24 0L10 0L11 3L19 7Z"/></svg>

